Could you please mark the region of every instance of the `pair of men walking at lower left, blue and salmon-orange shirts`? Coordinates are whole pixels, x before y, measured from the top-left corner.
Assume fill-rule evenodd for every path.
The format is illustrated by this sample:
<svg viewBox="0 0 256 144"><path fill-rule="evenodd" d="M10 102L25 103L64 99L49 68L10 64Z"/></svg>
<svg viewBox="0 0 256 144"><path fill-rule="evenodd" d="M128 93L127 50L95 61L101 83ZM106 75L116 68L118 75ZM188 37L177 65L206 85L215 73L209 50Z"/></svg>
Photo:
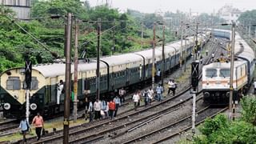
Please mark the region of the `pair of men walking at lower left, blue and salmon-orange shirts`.
<svg viewBox="0 0 256 144"><path fill-rule="evenodd" d="M43 118L42 116L38 113L32 121L32 125L35 127L35 133L37 134L37 141L40 140L41 135L42 135L42 130L43 130ZM30 122L27 122L26 117L23 117L20 124L19 128L22 132L22 143L26 143L26 133L28 131L31 131L30 128Z"/></svg>

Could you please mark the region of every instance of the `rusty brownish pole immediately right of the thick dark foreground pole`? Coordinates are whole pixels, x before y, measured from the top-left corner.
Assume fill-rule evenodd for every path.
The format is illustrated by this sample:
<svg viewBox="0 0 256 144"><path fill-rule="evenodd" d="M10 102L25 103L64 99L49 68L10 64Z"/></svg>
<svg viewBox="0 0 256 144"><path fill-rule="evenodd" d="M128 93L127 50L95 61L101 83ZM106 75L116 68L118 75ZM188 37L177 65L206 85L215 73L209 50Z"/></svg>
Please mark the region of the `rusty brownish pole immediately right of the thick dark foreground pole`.
<svg viewBox="0 0 256 144"><path fill-rule="evenodd" d="M74 33L74 123L78 114L78 20L75 21Z"/></svg>

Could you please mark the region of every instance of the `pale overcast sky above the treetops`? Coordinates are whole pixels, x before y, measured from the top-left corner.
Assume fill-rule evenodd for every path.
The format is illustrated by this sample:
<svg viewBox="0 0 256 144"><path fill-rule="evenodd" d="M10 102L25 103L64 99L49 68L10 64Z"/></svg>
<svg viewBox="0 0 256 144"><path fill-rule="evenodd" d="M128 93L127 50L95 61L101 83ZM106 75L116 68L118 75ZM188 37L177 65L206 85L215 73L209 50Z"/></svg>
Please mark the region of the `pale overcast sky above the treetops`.
<svg viewBox="0 0 256 144"><path fill-rule="evenodd" d="M81 0L85 1L85 0ZM198 13L212 13L218 11L225 4L232 4L239 10L256 9L255 0L88 0L90 6L96 6L102 2L110 2L111 6L119 10L139 10L145 13L166 12L182 10Z"/></svg>

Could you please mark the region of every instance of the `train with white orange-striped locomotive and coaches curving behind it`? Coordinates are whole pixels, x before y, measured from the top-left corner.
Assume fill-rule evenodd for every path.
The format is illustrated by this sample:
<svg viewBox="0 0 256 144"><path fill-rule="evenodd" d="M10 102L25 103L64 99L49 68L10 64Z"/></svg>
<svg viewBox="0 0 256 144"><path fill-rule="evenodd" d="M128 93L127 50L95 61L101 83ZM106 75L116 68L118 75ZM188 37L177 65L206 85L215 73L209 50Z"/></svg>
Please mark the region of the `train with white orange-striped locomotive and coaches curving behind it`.
<svg viewBox="0 0 256 144"><path fill-rule="evenodd" d="M230 30L214 30L215 37L231 39ZM254 74L254 50L235 34L234 44L234 100L250 87ZM230 62L213 62L202 67L202 92L205 103L227 105L230 98Z"/></svg>

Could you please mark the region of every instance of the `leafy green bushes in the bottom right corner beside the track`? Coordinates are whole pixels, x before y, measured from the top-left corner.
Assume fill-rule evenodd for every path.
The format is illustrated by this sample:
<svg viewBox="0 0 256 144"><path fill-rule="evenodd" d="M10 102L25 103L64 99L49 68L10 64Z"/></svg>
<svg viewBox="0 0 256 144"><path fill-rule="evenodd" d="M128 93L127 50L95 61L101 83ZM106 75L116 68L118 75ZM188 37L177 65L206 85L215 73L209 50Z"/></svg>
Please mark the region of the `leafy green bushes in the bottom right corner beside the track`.
<svg viewBox="0 0 256 144"><path fill-rule="evenodd" d="M200 134L193 143L254 143L256 139L256 97L248 95L242 98L241 118L230 122L226 115L218 114L208 118L198 127ZM187 141L188 142L188 141ZM181 141L181 143L186 143Z"/></svg>

